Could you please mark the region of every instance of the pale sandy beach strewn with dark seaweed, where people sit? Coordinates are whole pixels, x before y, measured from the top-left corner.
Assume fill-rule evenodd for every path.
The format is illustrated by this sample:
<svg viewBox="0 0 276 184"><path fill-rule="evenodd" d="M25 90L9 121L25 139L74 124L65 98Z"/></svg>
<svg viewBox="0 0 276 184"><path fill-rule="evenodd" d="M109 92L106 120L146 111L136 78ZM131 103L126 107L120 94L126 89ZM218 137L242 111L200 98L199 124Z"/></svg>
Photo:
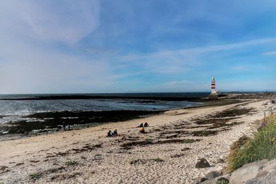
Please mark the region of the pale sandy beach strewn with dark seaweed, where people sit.
<svg viewBox="0 0 276 184"><path fill-rule="evenodd" d="M226 165L218 160L226 158L233 141L250 132L250 123L262 119L269 107L262 103L250 100L172 110L144 119L2 141L0 183L192 183L193 178ZM228 119L226 125L233 126L201 124L212 114L233 108L254 110ZM141 122L150 125L148 134L135 128ZM106 137L108 130L115 129L119 136ZM197 141L176 141L184 139ZM199 158L212 167L195 168Z"/></svg>

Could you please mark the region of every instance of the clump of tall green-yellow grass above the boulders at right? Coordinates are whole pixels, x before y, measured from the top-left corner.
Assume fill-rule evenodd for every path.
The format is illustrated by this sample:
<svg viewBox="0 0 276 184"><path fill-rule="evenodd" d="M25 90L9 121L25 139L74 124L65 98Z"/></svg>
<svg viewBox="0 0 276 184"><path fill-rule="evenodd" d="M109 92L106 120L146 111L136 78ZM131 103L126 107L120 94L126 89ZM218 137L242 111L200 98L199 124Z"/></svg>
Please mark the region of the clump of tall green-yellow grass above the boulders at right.
<svg viewBox="0 0 276 184"><path fill-rule="evenodd" d="M226 172L233 172L246 163L276 158L276 114L267 116L261 122L262 127L244 145L230 152Z"/></svg>

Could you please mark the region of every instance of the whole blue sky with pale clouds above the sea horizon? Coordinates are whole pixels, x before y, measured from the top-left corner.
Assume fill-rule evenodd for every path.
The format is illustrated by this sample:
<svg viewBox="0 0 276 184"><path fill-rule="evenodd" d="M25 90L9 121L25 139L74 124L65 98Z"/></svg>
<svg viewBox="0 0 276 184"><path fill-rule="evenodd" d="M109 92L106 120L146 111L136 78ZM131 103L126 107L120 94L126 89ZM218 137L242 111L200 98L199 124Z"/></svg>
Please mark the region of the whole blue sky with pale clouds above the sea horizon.
<svg viewBox="0 0 276 184"><path fill-rule="evenodd" d="M0 93L276 90L276 1L0 3Z"/></svg>

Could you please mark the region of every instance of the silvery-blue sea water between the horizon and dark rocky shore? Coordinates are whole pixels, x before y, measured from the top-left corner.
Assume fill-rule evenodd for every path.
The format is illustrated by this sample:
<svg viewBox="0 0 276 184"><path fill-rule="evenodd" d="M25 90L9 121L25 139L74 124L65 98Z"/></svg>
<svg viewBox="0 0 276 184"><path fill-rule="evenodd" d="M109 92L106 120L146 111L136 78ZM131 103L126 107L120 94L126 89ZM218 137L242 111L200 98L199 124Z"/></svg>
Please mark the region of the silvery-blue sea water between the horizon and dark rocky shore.
<svg viewBox="0 0 276 184"><path fill-rule="evenodd" d="M0 95L0 123L22 120L21 116L36 112L78 110L172 110L202 105L193 101L162 101L142 99L62 99L62 100L4 100L52 96L57 94L2 94ZM61 96L72 94L58 94ZM76 95L76 94L73 94ZM147 96L147 97L205 97L208 93L128 93L128 94L77 94L89 96Z"/></svg>

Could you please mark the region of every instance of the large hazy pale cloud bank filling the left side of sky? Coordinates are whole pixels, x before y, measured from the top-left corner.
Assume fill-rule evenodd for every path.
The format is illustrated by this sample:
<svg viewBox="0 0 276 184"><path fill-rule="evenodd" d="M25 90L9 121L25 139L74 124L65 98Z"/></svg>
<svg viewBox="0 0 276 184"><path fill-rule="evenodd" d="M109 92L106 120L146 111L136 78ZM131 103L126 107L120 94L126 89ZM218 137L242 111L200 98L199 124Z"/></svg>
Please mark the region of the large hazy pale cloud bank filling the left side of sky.
<svg viewBox="0 0 276 184"><path fill-rule="evenodd" d="M55 6L54 6L55 4ZM56 49L97 27L97 1L1 1L0 93L99 92L108 62Z"/></svg>

